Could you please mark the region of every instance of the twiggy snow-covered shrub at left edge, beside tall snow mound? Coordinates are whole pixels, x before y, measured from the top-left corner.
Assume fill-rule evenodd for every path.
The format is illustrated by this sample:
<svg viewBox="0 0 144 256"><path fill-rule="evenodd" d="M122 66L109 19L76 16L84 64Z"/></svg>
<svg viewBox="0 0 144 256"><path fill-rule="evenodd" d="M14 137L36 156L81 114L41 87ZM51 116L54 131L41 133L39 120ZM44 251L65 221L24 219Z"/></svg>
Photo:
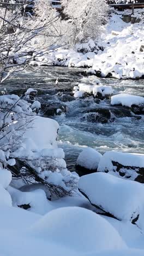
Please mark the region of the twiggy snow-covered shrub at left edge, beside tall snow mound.
<svg viewBox="0 0 144 256"><path fill-rule="evenodd" d="M32 121L33 112L26 101L17 95L0 96L1 167L15 164L9 157L20 147L23 134Z"/></svg>

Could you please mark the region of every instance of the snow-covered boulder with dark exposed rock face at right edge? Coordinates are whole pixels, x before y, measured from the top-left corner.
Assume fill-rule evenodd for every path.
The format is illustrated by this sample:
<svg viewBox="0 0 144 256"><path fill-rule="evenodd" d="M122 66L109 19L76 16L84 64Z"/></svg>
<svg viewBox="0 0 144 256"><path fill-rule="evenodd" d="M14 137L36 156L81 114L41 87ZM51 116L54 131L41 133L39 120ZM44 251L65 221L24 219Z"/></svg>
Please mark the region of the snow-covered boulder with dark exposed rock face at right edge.
<svg viewBox="0 0 144 256"><path fill-rule="evenodd" d="M144 183L144 154L106 152L100 159L98 172Z"/></svg>

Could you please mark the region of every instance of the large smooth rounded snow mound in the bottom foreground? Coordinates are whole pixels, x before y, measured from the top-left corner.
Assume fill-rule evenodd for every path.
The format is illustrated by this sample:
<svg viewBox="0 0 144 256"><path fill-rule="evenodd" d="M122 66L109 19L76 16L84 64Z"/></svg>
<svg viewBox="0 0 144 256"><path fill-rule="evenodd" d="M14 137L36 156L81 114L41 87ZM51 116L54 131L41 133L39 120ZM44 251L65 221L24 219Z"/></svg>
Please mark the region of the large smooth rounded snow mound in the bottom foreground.
<svg viewBox="0 0 144 256"><path fill-rule="evenodd" d="M122 237L97 213L80 207L64 207L47 213L29 230L31 236L56 242L77 253L126 248Z"/></svg>

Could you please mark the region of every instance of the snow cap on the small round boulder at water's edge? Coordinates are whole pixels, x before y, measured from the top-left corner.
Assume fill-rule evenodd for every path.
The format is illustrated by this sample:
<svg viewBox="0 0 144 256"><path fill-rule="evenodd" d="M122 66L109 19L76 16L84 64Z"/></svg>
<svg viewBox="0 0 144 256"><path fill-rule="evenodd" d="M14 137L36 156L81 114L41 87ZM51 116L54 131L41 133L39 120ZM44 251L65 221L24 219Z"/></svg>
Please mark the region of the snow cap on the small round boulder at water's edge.
<svg viewBox="0 0 144 256"><path fill-rule="evenodd" d="M89 170L97 170L102 155L93 148L85 148L76 160L76 164Z"/></svg>

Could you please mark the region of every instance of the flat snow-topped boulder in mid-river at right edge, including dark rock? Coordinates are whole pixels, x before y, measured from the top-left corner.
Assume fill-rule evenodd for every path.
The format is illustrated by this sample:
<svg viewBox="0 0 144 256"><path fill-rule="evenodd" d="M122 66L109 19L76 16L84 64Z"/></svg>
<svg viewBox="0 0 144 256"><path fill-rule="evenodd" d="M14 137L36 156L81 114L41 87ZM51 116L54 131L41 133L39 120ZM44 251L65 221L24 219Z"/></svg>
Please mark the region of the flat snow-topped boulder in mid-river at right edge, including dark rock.
<svg viewBox="0 0 144 256"><path fill-rule="evenodd" d="M122 105L130 108L135 114L144 113L144 97L130 94L118 94L111 97L111 105Z"/></svg>

